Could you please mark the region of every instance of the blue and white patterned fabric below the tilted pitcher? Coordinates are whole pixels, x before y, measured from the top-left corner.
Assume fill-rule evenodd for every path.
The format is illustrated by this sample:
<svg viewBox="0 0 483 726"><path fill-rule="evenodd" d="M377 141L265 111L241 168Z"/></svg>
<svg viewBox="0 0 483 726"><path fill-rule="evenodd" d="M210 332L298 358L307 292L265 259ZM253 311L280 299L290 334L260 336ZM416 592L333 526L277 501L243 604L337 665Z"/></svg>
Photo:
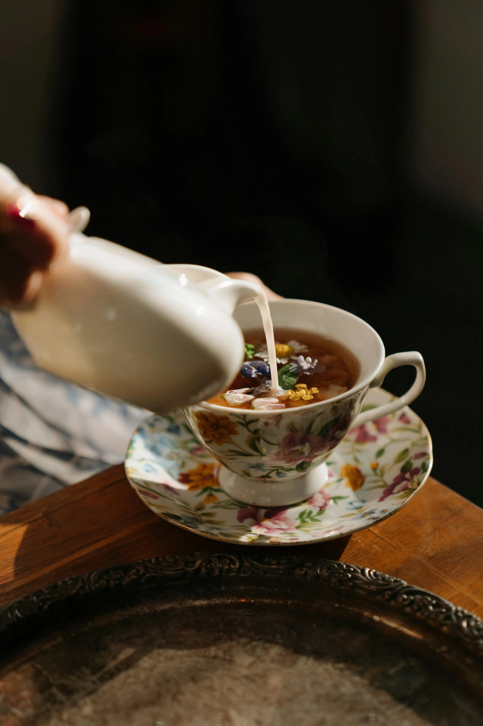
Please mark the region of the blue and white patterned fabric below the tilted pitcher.
<svg viewBox="0 0 483 726"><path fill-rule="evenodd" d="M122 462L147 415L40 370L0 311L0 514Z"/></svg>

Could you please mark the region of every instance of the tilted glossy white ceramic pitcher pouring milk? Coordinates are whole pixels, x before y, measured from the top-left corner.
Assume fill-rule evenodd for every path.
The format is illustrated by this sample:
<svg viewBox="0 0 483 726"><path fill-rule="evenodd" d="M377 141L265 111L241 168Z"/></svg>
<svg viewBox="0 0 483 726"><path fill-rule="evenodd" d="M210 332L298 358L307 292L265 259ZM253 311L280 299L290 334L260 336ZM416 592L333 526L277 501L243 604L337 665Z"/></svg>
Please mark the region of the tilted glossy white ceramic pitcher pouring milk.
<svg viewBox="0 0 483 726"><path fill-rule="evenodd" d="M76 232L67 258L13 319L39 367L166 413L235 378L244 351L232 312L260 293L252 282Z"/></svg>

